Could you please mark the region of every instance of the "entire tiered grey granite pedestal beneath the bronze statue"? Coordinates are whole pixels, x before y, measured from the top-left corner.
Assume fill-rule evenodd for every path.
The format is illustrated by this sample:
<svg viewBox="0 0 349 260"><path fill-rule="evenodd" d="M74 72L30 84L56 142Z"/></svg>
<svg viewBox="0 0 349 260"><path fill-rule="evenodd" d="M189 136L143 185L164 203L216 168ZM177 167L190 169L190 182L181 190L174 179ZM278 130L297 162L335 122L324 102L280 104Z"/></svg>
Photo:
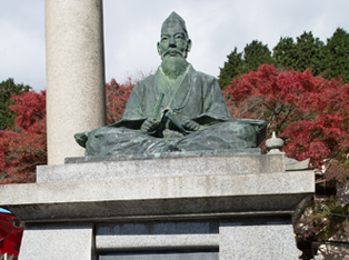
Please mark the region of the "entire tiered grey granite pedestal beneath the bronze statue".
<svg viewBox="0 0 349 260"><path fill-rule="evenodd" d="M286 172L282 153L201 156L39 167L38 183L0 186L26 221L20 260L298 259L313 172Z"/></svg>

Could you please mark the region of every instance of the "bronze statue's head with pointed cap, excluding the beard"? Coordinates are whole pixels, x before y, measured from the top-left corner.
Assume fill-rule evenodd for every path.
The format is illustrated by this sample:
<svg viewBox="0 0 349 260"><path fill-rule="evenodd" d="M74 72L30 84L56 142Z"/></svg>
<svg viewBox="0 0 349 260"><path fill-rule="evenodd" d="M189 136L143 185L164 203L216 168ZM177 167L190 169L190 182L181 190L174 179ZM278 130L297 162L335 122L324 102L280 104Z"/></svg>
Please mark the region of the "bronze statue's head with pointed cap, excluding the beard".
<svg viewBox="0 0 349 260"><path fill-rule="evenodd" d="M172 12L162 23L161 39L158 42L158 52L163 60L166 57L187 58L191 49L186 21Z"/></svg>

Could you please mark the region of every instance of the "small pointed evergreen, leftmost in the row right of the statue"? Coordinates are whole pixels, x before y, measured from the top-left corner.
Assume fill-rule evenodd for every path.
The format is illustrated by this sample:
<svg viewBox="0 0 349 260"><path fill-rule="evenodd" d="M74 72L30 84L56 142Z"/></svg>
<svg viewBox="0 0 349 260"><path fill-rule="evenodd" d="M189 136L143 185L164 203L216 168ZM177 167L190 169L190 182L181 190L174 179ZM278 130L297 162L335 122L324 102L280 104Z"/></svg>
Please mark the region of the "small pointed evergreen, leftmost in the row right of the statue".
<svg viewBox="0 0 349 260"><path fill-rule="evenodd" d="M238 52L237 47L227 58L228 61L225 62L223 68L219 68L220 73L218 76L218 82L221 89L226 89L231 83L232 79L243 73L245 62L242 60L242 52Z"/></svg>

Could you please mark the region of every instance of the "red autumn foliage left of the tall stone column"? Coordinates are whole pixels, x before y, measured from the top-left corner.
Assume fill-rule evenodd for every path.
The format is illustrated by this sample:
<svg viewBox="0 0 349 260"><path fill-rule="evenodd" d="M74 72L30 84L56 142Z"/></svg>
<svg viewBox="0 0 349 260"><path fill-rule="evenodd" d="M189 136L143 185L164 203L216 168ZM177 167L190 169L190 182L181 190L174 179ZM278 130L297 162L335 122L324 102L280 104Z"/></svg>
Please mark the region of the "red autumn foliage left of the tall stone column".
<svg viewBox="0 0 349 260"><path fill-rule="evenodd" d="M18 116L11 129L0 130L0 183L33 182L36 167L47 163L46 91L12 100Z"/></svg>

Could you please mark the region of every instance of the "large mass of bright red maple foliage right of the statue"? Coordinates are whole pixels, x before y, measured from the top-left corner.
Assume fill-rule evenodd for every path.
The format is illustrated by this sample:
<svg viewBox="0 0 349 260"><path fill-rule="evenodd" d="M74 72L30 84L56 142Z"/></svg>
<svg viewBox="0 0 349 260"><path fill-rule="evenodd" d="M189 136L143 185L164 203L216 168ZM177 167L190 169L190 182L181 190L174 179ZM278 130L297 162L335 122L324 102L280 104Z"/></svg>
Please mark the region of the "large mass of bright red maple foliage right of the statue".
<svg viewBox="0 0 349 260"><path fill-rule="evenodd" d="M266 120L268 132L286 141L290 158L310 158L312 168L326 159L346 160L349 151L349 84L326 80L311 71L279 71L262 64L225 91L235 118Z"/></svg>

